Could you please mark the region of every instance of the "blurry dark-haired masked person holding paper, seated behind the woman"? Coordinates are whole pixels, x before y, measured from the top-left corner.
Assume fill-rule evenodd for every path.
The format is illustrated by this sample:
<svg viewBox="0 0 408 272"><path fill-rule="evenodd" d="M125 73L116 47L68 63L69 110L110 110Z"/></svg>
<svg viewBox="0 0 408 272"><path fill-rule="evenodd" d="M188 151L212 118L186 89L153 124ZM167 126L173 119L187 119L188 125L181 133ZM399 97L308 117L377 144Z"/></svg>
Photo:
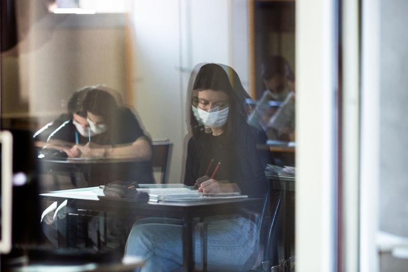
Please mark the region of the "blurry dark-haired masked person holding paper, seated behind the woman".
<svg viewBox="0 0 408 272"><path fill-rule="evenodd" d="M268 138L279 139L282 135L281 131L274 131L273 129L280 129L276 126L268 126L270 118L276 113L277 107L271 107L269 101L281 102L281 106L286 104L290 99L294 99L294 74L289 66L288 61L282 56L269 57L265 63L262 64L262 78L266 87L262 97L257 103L257 106L252 111L248 118L248 122L252 125L257 125L258 120L263 129L267 132ZM289 98L293 97L293 98ZM294 108L293 108L294 109ZM293 118L289 122L294 123L294 112L291 115ZM292 126L290 124L289 126ZM272 128L272 129L270 129ZM285 128L283 131L287 132ZM287 136L287 133L284 133ZM284 135L284 138L286 137Z"/></svg>

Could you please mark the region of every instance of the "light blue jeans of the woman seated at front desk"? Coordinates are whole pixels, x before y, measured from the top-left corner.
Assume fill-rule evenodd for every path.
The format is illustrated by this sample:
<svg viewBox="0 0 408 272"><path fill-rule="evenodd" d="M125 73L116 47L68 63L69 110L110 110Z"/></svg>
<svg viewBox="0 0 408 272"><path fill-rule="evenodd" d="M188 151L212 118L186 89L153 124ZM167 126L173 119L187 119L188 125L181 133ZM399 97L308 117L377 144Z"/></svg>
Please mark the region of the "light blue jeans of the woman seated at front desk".
<svg viewBox="0 0 408 272"><path fill-rule="evenodd" d="M206 219L208 270L249 270L258 254L256 224L237 215ZM196 224L193 233L196 269L202 268L201 227L202 223ZM136 271L179 271L183 263L182 228L178 219L141 219L127 238L125 255L136 255L145 260L141 270Z"/></svg>

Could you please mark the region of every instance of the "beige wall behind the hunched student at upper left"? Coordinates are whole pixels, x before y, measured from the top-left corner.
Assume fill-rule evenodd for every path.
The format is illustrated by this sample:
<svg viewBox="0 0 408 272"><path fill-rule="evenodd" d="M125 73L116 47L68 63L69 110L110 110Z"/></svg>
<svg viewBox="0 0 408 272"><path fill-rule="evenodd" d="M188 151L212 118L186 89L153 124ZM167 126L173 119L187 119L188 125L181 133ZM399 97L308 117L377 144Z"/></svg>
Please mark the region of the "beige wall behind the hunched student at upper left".
<svg viewBox="0 0 408 272"><path fill-rule="evenodd" d="M85 85L124 93L123 14L48 13L29 25L18 46L2 55L3 117L39 116L41 125L64 112L72 92Z"/></svg>

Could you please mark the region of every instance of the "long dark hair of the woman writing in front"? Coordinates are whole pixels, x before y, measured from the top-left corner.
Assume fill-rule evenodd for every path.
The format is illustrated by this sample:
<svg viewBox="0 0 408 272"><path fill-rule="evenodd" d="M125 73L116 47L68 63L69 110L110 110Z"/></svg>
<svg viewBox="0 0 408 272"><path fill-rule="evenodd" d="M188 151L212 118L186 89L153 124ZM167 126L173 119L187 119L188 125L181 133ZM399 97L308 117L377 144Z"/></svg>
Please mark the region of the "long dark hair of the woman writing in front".
<svg viewBox="0 0 408 272"><path fill-rule="evenodd" d="M234 132L239 131L243 124L246 125L246 111L243 104L245 98L243 97L243 93L240 94L240 92L237 92L232 86L232 83L233 84L237 83L237 80L230 80L230 77L228 77L227 71L229 69L233 71L231 72L231 75L233 75L234 77L238 77L235 71L229 66L224 66L226 68L223 68L222 66L214 63L202 65L198 70L191 92L193 90L201 91L210 89L213 91L223 91L228 95L228 98L230 100L229 101L230 109L228 110L228 117L227 122L225 124L224 133L226 134L226 139L231 140L234 139L233 135ZM238 82L239 85L242 87L239 79ZM190 105L193 105L194 100L193 95L191 95L191 99L192 100ZM202 126L200 126L197 120L195 119L191 107L190 107L190 127L191 132L193 134L193 138L199 137L200 131L202 130Z"/></svg>

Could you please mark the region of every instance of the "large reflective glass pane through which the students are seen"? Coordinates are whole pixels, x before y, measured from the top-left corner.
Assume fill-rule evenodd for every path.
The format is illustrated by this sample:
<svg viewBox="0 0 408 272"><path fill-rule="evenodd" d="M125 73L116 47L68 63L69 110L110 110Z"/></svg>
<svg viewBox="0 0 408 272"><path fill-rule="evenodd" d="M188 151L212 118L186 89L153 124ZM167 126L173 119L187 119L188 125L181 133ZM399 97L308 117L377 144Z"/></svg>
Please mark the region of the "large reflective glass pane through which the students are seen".
<svg viewBox="0 0 408 272"><path fill-rule="evenodd" d="M2 267L294 266L293 1L1 3Z"/></svg>

